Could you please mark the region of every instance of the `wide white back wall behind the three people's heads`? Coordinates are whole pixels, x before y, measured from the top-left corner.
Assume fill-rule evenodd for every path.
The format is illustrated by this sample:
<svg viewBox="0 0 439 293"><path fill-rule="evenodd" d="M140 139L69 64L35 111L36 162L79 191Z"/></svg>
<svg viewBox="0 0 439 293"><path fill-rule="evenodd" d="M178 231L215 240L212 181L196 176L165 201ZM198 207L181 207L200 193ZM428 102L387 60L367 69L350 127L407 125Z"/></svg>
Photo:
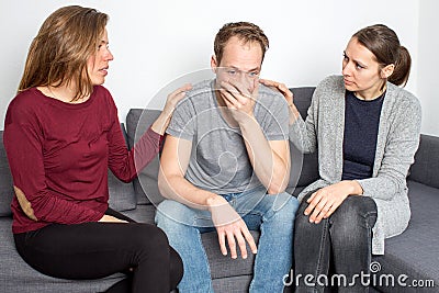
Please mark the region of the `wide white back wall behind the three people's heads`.
<svg viewBox="0 0 439 293"><path fill-rule="evenodd" d="M290 87L315 86L325 76L339 74L349 37L365 25L387 24L412 53L414 68L406 88L417 94L418 48L424 52L419 44L425 43L419 35L428 35L435 27L424 24L423 34L419 32L423 1L0 0L0 128L7 105L15 94L29 45L44 19L61 5L77 3L110 14L108 30L115 59L105 87L113 93L124 121L130 108L148 105L176 78L209 68L214 35L230 21L255 22L264 30L270 49L262 77ZM435 0L428 2L434 5ZM432 58L432 52L429 54ZM432 92L432 84L428 87L425 91ZM435 116L434 111L424 111L427 121Z"/></svg>

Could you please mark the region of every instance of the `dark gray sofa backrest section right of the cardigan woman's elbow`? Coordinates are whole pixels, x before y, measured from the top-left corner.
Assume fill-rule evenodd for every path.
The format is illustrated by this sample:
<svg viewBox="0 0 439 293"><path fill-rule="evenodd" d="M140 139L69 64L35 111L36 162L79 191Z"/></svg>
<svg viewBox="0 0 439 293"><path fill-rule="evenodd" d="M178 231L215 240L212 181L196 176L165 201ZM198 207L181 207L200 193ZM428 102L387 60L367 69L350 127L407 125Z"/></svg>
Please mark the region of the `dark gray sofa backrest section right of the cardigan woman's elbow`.
<svg viewBox="0 0 439 293"><path fill-rule="evenodd" d="M408 180L439 188L439 137L421 134Z"/></svg>

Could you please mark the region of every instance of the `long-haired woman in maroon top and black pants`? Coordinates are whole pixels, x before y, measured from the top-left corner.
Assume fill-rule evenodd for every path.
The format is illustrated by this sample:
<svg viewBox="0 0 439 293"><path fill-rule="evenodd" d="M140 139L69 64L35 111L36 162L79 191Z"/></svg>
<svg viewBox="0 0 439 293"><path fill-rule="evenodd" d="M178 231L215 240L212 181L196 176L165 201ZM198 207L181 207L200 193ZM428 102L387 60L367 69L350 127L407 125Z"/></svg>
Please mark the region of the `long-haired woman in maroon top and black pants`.
<svg viewBox="0 0 439 293"><path fill-rule="evenodd" d="M175 105L165 109L127 150L105 80L108 15L65 7L50 14L29 50L18 95L4 122L14 182L15 246L42 273L97 279L128 278L108 292L169 292L182 277L178 253L156 226L109 209L108 168L131 181L158 153ZM134 162L134 159L136 162Z"/></svg>

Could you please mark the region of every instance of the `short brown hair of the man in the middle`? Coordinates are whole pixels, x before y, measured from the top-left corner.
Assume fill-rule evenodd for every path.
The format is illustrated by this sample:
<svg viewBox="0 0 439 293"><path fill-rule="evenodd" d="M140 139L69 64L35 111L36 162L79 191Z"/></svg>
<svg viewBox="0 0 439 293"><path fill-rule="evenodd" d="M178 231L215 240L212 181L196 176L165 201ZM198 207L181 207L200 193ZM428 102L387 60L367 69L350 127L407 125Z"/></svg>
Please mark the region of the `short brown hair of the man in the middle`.
<svg viewBox="0 0 439 293"><path fill-rule="evenodd" d="M232 22L226 23L221 27L215 36L214 52L217 64L223 58L224 47L230 37L237 36L245 44L248 42L257 42L262 49L262 60L269 47L268 37L263 31L256 24L250 22Z"/></svg>

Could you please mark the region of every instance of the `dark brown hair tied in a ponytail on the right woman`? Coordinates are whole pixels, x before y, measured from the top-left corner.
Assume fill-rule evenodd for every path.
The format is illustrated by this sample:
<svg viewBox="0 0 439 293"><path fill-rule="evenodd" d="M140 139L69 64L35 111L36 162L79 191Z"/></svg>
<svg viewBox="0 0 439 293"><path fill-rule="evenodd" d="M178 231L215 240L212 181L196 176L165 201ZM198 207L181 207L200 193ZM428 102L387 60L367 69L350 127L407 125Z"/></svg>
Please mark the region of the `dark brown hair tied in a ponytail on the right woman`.
<svg viewBox="0 0 439 293"><path fill-rule="evenodd" d="M393 64L395 69L387 80L405 87L410 75L412 58L393 30L384 24L375 24L358 31L352 37L375 55L380 69Z"/></svg>

